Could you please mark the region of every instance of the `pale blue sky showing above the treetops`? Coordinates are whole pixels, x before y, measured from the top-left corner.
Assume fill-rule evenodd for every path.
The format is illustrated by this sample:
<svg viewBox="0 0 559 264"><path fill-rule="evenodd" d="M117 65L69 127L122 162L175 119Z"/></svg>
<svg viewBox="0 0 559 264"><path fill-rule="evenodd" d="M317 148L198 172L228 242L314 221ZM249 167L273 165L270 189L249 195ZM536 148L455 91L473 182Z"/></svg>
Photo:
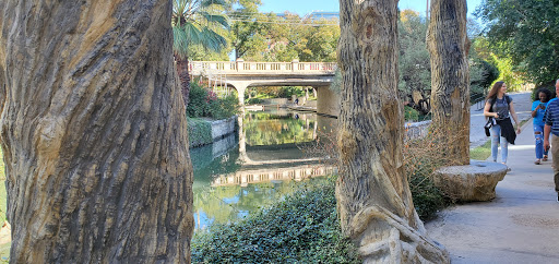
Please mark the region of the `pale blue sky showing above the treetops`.
<svg viewBox="0 0 559 264"><path fill-rule="evenodd" d="M467 12L471 15L481 0L467 0ZM425 15L427 0L401 0L399 2L401 10L412 9ZM289 11L299 15L305 15L312 11L340 11L340 2L337 0L262 0L260 7L261 12L283 13Z"/></svg>

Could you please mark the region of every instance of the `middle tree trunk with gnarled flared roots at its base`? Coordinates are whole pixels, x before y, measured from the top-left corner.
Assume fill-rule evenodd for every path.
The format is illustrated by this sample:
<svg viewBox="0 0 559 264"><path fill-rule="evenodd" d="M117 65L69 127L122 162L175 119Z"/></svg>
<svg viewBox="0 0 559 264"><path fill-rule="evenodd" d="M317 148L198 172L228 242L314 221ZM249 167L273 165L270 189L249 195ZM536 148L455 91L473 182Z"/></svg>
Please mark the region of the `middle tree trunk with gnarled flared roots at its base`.
<svg viewBox="0 0 559 264"><path fill-rule="evenodd" d="M340 179L342 228L364 262L449 262L426 237L404 175L397 98L397 0L341 0Z"/></svg>

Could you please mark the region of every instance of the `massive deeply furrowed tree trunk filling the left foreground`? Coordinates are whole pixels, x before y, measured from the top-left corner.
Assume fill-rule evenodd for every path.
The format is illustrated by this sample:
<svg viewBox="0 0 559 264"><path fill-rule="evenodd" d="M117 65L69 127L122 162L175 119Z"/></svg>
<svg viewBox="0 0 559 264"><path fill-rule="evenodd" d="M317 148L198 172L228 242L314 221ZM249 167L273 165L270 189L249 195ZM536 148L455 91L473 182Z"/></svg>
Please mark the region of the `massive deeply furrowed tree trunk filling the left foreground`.
<svg viewBox="0 0 559 264"><path fill-rule="evenodd" d="M171 2L0 8L10 261L190 262L192 166Z"/></svg>

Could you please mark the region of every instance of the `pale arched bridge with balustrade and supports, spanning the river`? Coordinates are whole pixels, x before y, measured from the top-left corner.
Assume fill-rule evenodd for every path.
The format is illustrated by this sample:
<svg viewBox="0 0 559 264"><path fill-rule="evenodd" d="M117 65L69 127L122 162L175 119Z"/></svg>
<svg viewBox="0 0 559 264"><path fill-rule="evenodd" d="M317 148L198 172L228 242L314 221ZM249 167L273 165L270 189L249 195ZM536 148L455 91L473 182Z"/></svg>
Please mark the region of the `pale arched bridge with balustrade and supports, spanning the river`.
<svg viewBox="0 0 559 264"><path fill-rule="evenodd" d="M190 74L203 76L214 86L234 87L240 105L245 91L253 86L312 86L317 89L317 111L337 116L340 96L329 88L334 80L335 62L245 62L191 61Z"/></svg>

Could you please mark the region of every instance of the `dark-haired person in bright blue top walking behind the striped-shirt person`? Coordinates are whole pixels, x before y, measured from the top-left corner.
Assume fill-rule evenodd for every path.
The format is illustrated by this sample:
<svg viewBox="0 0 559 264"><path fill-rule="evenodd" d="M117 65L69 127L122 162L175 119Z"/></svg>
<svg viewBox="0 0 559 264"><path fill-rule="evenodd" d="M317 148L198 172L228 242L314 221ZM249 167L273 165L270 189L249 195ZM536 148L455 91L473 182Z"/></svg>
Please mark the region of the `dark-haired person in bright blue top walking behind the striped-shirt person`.
<svg viewBox="0 0 559 264"><path fill-rule="evenodd" d="M534 137L536 139L536 161L535 165L540 165L542 161L547 161L547 149L544 149L544 113L546 111L547 103L551 99L551 92L547 88L540 88L536 93L539 100L532 104L532 117L534 127Z"/></svg>

